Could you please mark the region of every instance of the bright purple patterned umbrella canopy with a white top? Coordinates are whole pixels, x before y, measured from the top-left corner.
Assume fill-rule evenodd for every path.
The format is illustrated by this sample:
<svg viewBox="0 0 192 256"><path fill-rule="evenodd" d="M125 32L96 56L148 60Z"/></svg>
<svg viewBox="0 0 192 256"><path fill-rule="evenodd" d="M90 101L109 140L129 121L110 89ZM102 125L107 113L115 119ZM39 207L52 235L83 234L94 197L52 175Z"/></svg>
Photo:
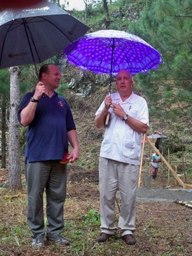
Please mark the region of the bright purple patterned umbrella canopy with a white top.
<svg viewBox="0 0 192 256"><path fill-rule="evenodd" d="M158 68L161 54L137 35L117 30L100 30L78 38L65 48L72 65L96 74L117 75L125 69L134 75Z"/></svg>

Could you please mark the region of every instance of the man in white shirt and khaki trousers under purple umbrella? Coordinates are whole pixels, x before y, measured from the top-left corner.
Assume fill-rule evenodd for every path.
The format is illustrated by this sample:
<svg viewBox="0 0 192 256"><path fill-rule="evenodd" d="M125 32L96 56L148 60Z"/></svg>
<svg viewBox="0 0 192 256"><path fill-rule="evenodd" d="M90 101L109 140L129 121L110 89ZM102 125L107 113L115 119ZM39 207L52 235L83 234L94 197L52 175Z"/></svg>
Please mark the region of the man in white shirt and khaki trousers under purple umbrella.
<svg viewBox="0 0 192 256"><path fill-rule="evenodd" d="M115 196L120 191L118 227L126 244L135 244L135 198L141 158L141 138L149 125L147 102L132 91L128 71L116 77L118 92L108 95L96 112L95 125L101 128L110 112L99 160L101 235L98 242L117 234L114 224Z"/></svg>

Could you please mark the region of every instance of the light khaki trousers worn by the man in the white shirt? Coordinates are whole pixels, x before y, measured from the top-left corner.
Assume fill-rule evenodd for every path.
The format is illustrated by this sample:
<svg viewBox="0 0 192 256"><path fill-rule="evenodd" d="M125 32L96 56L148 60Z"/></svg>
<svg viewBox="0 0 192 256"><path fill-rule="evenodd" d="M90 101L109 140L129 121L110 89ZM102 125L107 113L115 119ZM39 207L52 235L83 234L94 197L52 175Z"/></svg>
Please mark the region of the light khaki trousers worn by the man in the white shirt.
<svg viewBox="0 0 192 256"><path fill-rule="evenodd" d="M139 174L138 165L129 165L107 158L99 160L101 232L116 234L115 197L121 195L118 227L121 235L135 230L135 199Z"/></svg>

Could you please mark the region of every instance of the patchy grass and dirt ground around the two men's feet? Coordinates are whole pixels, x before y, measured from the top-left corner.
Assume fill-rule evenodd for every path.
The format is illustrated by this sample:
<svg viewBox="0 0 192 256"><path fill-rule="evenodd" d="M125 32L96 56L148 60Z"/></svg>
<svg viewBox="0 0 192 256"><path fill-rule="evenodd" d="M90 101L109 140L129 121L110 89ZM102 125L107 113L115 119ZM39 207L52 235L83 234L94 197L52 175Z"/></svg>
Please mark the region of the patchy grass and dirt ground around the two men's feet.
<svg viewBox="0 0 192 256"><path fill-rule="evenodd" d="M98 244L100 234L98 186L90 183L68 184L65 201L63 235L71 241L69 247L46 245L31 248L31 233L26 222L25 191L0 188L0 255L44 256L190 256L191 209L179 204L137 202L137 244L127 246L121 235ZM116 206L118 224L118 206Z"/></svg>

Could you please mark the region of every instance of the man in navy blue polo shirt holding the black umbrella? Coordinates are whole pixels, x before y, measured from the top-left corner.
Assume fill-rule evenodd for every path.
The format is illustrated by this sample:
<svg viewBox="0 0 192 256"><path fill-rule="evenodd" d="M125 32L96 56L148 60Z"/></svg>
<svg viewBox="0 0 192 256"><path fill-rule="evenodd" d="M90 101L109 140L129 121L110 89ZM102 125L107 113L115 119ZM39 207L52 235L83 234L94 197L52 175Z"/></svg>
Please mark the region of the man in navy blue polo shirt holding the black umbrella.
<svg viewBox="0 0 192 256"><path fill-rule="evenodd" d="M28 92L18 110L18 121L28 126L25 148L25 177L28 191L28 225L32 245L43 247L48 242L68 245L61 236L64 228L63 208L66 196L67 165L61 159L71 152L68 161L79 157L79 144L74 118L65 98L55 89L61 73L58 66L41 66L34 91ZM47 223L45 228L43 194L46 193Z"/></svg>

